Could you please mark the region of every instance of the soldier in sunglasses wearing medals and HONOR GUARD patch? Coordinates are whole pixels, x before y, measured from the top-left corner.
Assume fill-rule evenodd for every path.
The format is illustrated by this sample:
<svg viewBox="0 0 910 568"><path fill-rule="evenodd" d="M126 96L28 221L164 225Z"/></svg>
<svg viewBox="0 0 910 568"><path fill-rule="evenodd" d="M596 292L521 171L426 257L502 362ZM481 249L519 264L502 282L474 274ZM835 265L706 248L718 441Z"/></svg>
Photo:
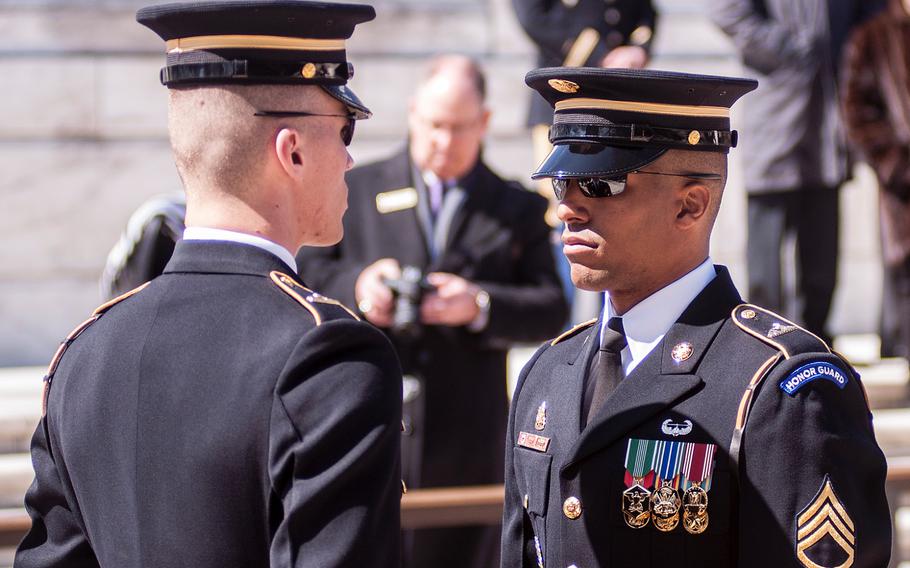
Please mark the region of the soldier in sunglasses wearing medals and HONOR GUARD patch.
<svg viewBox="0 0 910 568"><path fill-rule="evenodd" d="M575 284L604 313L545 344L509 415L503 566L862 566L890 554L859 376L743 304L709 256L755 81L541 69Z"/></svg>

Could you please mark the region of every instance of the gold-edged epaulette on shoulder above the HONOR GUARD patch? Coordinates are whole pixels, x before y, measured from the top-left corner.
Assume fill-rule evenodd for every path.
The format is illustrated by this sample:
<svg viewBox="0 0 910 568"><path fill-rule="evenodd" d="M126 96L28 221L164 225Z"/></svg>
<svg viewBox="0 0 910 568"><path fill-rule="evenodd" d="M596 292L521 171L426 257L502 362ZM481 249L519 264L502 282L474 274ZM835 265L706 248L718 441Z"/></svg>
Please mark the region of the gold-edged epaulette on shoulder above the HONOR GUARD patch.
<svg viewBox="0 0 910 568"><path fill-rule="evenodd" d="M820 337L772 311L740 304L733 309L733 322L744 332L774 347L789 359L799 353L830 353Z"/></svg>

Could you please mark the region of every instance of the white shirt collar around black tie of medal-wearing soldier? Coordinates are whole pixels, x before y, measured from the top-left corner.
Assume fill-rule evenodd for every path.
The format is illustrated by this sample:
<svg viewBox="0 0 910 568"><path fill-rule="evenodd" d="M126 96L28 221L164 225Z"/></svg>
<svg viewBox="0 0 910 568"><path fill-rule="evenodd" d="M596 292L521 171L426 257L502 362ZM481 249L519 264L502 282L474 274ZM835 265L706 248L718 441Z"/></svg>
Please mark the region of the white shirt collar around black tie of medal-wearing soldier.
<svg viewBox="0 0 910 568"><path fill-rule="evenodd" d="M622 325L627 346L622 351L622 363L626 375L660 343L670 326L676 323L692 300L715 276L717 272L714 263L708 257L694 270L654 292L623 314ZM615 315L609 294L604 294L601 329Z"/></svg>

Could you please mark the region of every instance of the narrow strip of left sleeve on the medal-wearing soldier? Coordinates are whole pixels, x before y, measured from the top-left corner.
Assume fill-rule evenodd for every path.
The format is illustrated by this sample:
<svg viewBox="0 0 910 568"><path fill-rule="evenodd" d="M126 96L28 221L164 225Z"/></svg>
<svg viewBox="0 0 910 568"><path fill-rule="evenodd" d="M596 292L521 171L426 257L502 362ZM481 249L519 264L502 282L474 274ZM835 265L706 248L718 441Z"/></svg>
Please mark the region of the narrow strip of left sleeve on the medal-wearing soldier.
<svg viewBox="0 0 910 568"><path fill-rule="evenodd" d="M509 423L506 429L505 439L505 501L502 512L502 568L525 568L537 566L537 557L534 547L534 531L531 529L528 515L525 512L522 503L521 491L518 489L517 471L515 470L514 459L514 442L515 436L515 408L517 406L518 395L525 379L540 358L540 355L546 350L546 345L542 346L531 357L528 363L521 370L518 382L515 385L515 393L512 396L512 404L509 408Z"/></svg>

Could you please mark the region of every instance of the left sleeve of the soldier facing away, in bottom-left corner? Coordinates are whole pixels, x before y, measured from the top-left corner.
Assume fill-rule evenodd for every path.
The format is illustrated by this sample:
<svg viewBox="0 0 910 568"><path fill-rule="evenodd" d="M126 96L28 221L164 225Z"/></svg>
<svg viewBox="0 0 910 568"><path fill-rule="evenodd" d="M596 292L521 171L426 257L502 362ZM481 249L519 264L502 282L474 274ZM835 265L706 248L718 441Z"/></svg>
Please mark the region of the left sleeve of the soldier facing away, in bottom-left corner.
<svg viewBox="0 0 910 568"><path fill-rule="evenodd" d="M32 527L19 544L16 568L99 568L60 478L42 418L32 437L35 480L25 494Z"/></svg>

